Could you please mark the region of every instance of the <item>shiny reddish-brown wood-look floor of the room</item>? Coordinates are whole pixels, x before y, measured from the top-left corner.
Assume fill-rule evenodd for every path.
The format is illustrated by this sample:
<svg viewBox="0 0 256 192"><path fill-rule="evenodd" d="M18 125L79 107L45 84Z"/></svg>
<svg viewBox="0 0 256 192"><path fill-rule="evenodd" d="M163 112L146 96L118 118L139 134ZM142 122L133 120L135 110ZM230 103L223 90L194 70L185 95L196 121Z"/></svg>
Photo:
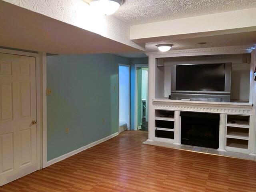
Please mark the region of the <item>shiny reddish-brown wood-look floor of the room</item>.
<svg viewBox="0 0 256 192"><path fill-rule="evenodd" d="M142 144L126 131L0 192L256 192L256 162Z"/></svg>

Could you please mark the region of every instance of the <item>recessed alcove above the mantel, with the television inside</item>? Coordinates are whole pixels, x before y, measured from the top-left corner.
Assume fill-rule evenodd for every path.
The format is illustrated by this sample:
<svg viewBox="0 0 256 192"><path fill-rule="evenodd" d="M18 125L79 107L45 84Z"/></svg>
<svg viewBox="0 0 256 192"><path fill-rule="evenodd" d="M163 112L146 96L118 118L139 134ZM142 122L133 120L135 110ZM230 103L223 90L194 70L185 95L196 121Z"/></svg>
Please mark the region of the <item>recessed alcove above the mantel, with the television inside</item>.
<svg viewBox="0 0 256 192"><path fill-rule="evenodd" d="M158 58L155 98L249 102L250 54Z"/></svg>

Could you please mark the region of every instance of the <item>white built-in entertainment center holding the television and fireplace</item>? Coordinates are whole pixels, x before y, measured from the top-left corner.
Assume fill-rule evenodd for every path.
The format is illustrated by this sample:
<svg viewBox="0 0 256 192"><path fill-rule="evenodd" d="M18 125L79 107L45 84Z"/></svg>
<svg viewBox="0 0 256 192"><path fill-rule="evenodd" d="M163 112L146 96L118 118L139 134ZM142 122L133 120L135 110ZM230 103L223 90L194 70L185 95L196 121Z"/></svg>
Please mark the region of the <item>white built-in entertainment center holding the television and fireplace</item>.
<svg viewBox="0 0 256 192"><path fill-rule="evenodd" d="M256 154L253 48L172 50L148 56L148 141Z"/></svg>

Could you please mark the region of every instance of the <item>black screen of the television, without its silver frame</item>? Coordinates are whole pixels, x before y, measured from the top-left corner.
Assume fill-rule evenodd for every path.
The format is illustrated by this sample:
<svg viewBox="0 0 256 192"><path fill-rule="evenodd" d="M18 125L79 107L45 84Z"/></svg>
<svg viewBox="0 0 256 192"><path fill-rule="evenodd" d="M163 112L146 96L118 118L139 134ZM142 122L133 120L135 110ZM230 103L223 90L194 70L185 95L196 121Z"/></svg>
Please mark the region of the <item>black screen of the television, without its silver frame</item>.
<svg viewBox="0 0 256 192"><path fill-rule="evenodd" d="M225 91L225 64L176 66L177 91Z"/></svg>

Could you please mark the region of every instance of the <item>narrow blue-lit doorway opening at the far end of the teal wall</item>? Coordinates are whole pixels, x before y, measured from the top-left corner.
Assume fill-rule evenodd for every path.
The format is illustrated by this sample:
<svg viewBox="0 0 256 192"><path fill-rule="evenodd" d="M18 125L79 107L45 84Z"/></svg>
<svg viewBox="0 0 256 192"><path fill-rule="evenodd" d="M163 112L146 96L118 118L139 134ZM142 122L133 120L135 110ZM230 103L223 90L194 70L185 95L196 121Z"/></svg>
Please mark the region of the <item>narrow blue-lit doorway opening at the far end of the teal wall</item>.
<svg viewBox="0 0 256 192"><path fill-rule="evenodd" d="M119 133L130 129L130 66L119 64Z"/></svg>

